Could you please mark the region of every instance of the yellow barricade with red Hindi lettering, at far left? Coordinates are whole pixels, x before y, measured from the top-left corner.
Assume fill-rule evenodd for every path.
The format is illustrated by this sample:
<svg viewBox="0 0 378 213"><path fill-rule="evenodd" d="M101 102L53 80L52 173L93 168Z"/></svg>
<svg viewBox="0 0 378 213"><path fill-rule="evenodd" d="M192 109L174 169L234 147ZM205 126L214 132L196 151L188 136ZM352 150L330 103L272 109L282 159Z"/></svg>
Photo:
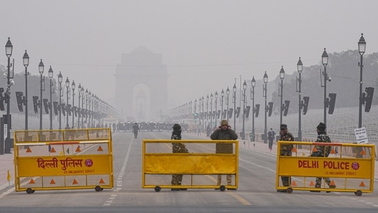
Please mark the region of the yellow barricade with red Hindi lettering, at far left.
<svg viewBox="0 0 378 213"><path fill-rule="evenodd" d="M16 192L112 188L112 131L30 130L14 132Z"/></svg>

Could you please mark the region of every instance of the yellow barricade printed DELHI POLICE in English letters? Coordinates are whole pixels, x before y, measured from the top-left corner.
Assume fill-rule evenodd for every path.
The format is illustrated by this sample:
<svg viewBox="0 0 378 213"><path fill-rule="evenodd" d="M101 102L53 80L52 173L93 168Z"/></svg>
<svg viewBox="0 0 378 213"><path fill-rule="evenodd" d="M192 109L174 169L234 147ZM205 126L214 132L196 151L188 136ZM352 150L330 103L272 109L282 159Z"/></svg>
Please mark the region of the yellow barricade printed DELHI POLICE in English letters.
<svg viewBox="0 0 378 213"><path fill-rule="evenodd" d="M374 158L375 144L278 141L275 187L288 193L372 193Z"/></svg>

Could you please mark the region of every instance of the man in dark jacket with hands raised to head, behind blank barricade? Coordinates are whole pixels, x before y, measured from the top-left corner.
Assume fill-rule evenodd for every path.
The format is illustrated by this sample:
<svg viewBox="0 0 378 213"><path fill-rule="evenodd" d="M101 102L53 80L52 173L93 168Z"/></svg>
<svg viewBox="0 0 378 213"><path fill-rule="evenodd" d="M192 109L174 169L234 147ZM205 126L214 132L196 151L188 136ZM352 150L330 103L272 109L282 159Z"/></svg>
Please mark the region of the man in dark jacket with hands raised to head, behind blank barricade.
<svg viewBox="0 0 378 213"><path fill-rule="evenodd" d="M211 140L236 140L238 139L238 134L235 131L231 130L231 126L227 120L220 121L220 126L211 134ZM217 143L216 144L216 153L217 154L233 154L233 144L232 143ZM227 174L227 185L231 185L232 176ZM218 175L217 185L222 183L222 175ZM216 190L218 190L217 188ZM229 190L236 190L231 188Z"/></svg>

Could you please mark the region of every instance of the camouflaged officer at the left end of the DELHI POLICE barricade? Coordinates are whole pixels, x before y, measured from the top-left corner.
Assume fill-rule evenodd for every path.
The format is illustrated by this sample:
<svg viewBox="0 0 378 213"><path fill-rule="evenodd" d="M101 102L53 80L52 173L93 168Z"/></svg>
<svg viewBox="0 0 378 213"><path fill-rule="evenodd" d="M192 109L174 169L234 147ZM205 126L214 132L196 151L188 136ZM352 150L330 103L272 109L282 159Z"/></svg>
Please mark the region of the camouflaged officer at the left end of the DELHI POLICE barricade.
<svg viewBox="0 0 378 213"><path fill-rule="evenodd" d="M294 136L287 130L286 124L280 126L280 141L294 141ZM291 156L291 150L293 150L293 144L281 145L280 156ZM289 186L291 183L290 176L281 176L282 185ZM286 190L277 190L277 192L286 192Z"/></svg>

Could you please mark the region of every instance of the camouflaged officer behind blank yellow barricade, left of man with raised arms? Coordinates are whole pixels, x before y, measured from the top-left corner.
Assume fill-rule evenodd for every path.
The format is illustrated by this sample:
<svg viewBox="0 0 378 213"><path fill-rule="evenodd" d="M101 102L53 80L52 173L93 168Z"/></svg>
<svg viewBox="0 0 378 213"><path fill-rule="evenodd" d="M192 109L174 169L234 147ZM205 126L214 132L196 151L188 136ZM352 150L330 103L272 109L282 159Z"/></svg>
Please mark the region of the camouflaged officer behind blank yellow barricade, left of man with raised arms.
<svg viewBox="0 0 378 213"><path fill-rule="evenodd" d="M171 140L181 140L181 126L177 123L173 127L174 131L172 132ZM188 153L187 148L184 143L172 143L172 152L173 153ZM172 175L172 185L181 185L182 174L173 174ZM172 188L172 191L187 190L185 188L178 189Z"/></svg>

